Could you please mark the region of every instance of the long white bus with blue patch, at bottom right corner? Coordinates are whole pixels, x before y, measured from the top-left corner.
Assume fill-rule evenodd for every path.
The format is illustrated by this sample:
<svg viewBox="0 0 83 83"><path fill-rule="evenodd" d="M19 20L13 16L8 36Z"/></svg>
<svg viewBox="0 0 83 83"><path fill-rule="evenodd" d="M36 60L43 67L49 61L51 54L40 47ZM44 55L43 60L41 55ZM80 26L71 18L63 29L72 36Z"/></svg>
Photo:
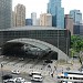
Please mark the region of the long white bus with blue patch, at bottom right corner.
<svg viewBox="0 0 83 83"><path fill-rule="evenodd" d="M58 83L83 83L83 72L81 71L66 71L58 74Z"/></svg>

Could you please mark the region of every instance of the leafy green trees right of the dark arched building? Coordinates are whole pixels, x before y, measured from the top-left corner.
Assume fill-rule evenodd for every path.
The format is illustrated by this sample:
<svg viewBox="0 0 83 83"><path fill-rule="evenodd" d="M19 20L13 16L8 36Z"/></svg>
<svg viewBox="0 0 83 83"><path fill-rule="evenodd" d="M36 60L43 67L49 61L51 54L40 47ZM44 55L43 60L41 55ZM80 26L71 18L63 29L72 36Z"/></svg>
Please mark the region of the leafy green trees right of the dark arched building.
<svg viewBox="0 0 83 83"><path fill-rule="evenodd" d="M80 54L80 52L83 51L83 38L80 35L72 35L71 37L71 49L74 52L79 53L79 59L82 64L82 55Z"/></svg>

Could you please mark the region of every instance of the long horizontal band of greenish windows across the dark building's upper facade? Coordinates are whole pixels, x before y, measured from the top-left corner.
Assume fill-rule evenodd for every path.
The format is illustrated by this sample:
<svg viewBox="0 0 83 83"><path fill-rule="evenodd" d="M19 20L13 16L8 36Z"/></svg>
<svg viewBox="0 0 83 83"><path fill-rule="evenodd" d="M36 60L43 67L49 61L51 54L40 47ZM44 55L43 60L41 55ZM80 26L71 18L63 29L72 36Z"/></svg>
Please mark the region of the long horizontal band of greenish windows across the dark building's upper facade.
<svg viewBox="0 0 83 83"><path fill-rule="evenodd" d="M0 35L45 35L45 37L64 37L65 33L64 32L55 32L55 31L14 31L14 32L0 32Z"/></svg>

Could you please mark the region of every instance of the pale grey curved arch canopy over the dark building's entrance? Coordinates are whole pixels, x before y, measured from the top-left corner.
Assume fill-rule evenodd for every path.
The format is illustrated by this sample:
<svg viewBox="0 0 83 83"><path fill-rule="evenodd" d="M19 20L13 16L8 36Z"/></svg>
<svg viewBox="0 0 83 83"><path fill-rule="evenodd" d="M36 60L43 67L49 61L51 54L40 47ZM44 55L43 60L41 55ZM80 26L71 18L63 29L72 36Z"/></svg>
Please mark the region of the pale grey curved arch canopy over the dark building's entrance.
<svg viewBox="0 0 83 83"><path fill-rule="evenodd" d="M9 42L20 42L20 43L24 43L24 44L30 44L30 45L33 45L33 46L39 48L41 50L44 50L46 52L49 52L49 51L58 52L59 60L61 60L61 59L66 60L66 58L68 58L68 55L63 51L61 51L59 48L56 48L48 42L44 42L44 41L29 39L29 38L28 39L22 38L22 39L10 40L10 41L8 41L8 43Z"/></svg>

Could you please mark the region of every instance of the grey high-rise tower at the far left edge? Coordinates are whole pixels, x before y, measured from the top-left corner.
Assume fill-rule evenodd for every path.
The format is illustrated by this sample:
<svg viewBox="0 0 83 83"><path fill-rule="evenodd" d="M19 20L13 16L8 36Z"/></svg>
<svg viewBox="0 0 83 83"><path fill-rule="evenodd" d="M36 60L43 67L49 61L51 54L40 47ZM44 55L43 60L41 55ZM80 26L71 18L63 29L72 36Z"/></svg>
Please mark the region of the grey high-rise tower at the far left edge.
<svg viewBox="0 0 83 83"><path fill-rule="evenodd" d="M0 0L0 29L11 28L12 0Z"/></svg>

